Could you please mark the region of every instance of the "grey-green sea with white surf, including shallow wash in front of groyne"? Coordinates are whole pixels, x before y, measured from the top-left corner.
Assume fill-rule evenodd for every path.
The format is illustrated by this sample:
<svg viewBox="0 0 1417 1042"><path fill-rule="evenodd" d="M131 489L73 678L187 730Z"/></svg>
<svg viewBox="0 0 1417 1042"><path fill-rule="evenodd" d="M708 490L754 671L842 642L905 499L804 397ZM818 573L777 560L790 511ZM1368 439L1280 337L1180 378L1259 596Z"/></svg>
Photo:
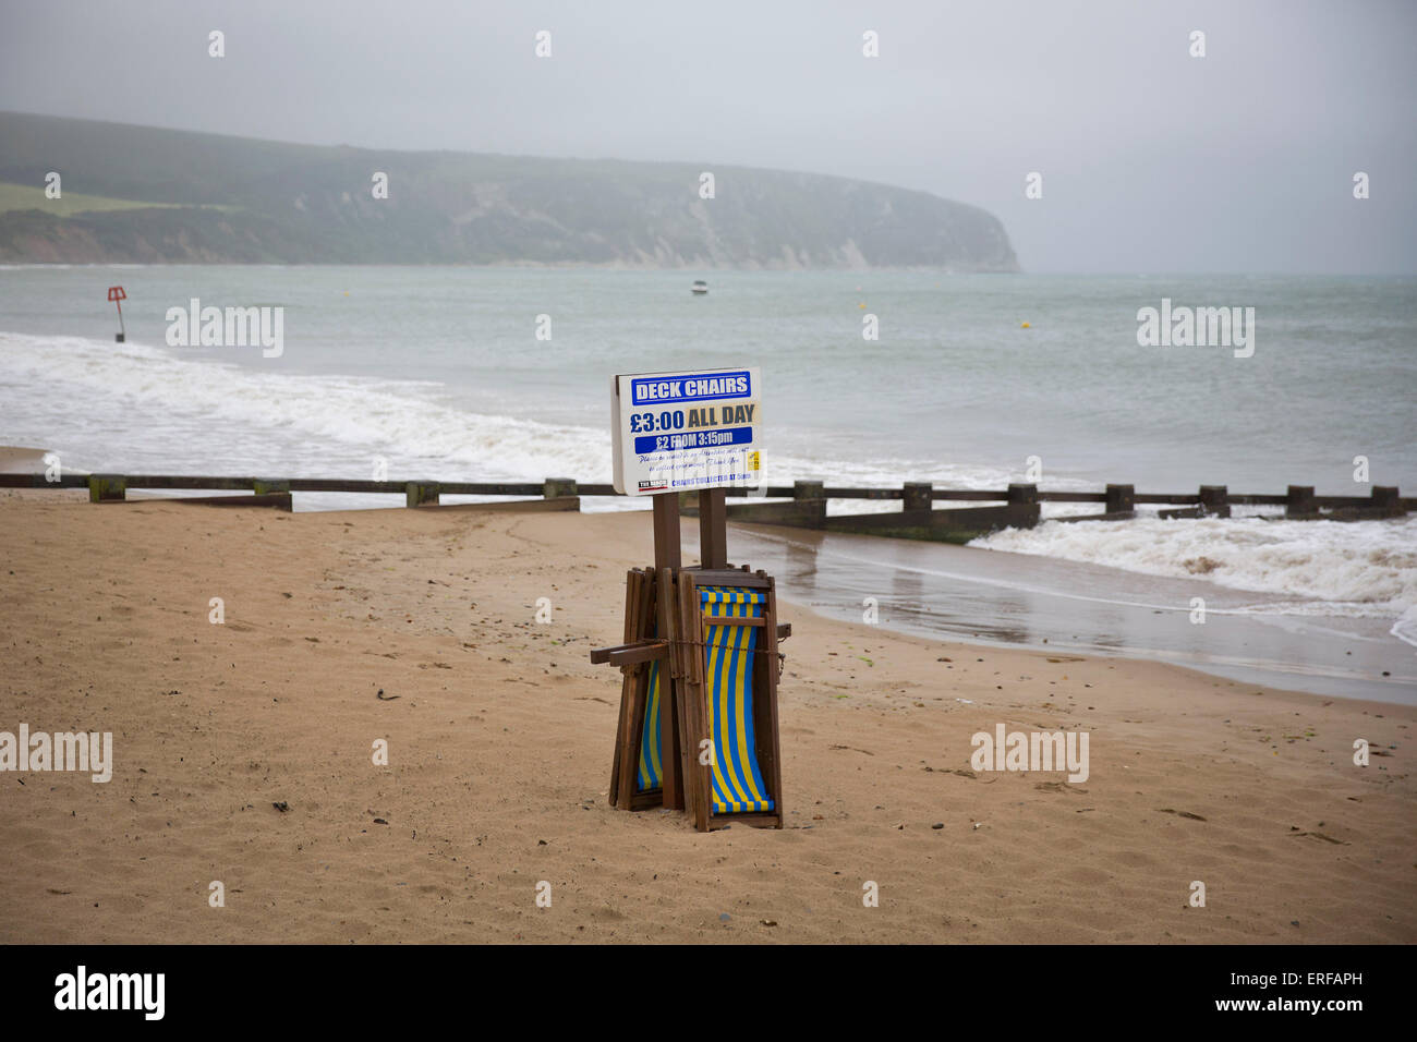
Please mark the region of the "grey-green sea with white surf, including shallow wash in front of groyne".
<svg viewBox="0 0 1417 1042"><path fill-rule="evenodd" d="M279 308L279 352L174 343L194 302ZM1253 329L1142 343L1163 306ZM612 374L740 364L762 370L771 485L1417 495L1411 276L0 265L0 444L81 471L609 482ZM735 526L730 556L840 618L1417 703L1417 516L1275 513L1142 509L965 547Z"/></svg>

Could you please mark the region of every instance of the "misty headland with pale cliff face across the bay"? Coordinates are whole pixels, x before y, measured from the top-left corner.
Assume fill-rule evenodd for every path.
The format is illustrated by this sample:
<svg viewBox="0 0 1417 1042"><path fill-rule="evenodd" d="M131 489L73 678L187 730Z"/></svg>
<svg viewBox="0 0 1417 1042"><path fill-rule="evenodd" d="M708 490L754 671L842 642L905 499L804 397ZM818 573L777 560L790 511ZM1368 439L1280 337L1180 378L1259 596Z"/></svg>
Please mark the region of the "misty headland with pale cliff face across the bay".
<svg viewBox="0 0 1417 1042"><path fill-rule="evenodd" d="M51 170L65 193L101 197L96 208L47 207L35 190ZM713 198L699 194L704 170ZM374 198L376 173L387 198ZM1017 271L1003 225L976 207L713 164L319 147L0 113L0 181L4 261Z"/></svg>

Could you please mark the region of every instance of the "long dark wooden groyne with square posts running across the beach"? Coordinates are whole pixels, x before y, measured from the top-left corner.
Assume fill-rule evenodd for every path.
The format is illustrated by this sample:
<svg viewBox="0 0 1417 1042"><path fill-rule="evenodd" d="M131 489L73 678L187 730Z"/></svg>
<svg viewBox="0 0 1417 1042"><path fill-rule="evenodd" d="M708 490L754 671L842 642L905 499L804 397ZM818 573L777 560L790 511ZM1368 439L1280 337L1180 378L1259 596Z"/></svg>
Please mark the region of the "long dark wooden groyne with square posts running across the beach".
<svg viewBox="0 0 1417 1042"><path fill-rule="evenodd" d="M132 502L130 489L245 492L247 495L181 498L174 502L218 506L271 506L290 509L293 492L343 492L357 495L401 495L411 508L435 508L442 496L506 496L512 509L580 509L581 496L614 496L611 485L581 483L574 478L546 478L540 482L468 481L353 481L343 478L211 478L191 475L65 474L50 481L44 474L0 474L0 488L88 489L94 503ZM1376 520L1400 517L1417 509L1417 499L1401 498L1396 486L1374 485L1366 496L1319 496L1312 485L1289 485L1282 493L1233 493L1224 485L1202 485L1195 492L1136 492L1134 485L1107 485L1101 492L1043 492L1037 485L1017 483L1006 489L938 489L930 482L905 482L900 488L847 488L819 481L798 481L765 489L724 489L735 500L727 517L757 525L788 525L823 532L853 532L897 539L927 539L964 543L1003 527L1032 527L1039 523L1043 503L1095 503L1097 513L1050 520L1127 520L1136 508L1162 506L1161 517L1229 517L1234 506L1284 508L1291 520ZM901 500L900 510L829 515L832 499ZM152 502L152 500L147 500ZM697 493L680 495L680 509L697 513ZM949 506L935 503L981 503Z"/></svg>

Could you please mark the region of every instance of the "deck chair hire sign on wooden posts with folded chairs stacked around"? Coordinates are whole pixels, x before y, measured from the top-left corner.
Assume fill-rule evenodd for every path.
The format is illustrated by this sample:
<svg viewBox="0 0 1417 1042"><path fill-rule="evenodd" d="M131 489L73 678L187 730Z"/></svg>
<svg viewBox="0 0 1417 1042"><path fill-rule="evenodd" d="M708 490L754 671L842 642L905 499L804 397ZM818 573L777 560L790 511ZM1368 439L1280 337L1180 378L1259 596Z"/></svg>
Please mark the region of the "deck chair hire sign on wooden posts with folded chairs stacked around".
<svg viewBox="0 0 1417 1042"><path fill-rule="evenodd" d="M748 574L747 566L730 568L727 550L726 492L760 485L761 424L757 367L631 373L611 380L615 491L652 496L655 533L655 567L635 568L626 580L626 642L591 652L592 662L625 671L611 802L623 809L687 807L701 829L716 827L716 814L717 827L726 817L782 825L777 641L791 627L777 624L771 577ZM700 561L687 568L680 549L683 492L699 496ZM649 604L648 611L633 607ZM731 654L710 656L710 645ZM731 671L731 695L714 671ZM737 724L728 717L714 723L710 692L738 699L735 716L726 710ZM752 747L733 740L724 746L728 730L743 720L757 723ZM727 774L714 761L718 747L741 757L724 768ZM728 802L726 777L743 783ZM743 791L750 777L752 798Z"/></svg>

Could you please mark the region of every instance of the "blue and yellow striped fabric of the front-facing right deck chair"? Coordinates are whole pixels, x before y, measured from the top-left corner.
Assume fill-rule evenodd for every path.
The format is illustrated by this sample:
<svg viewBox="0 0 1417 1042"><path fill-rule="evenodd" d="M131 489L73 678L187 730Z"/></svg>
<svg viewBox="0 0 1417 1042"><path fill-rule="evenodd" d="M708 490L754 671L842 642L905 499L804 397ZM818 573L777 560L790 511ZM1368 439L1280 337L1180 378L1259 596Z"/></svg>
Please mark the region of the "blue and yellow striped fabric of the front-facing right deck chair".
<svg viewBox="0 0 1417 1042"><path fill-rule="evenodd" d="M741 587L707 587L699 594L704 615L762 618L765 594ZM772 794L758 770L752 733L752 662L761 627L706 627L706 688L713 739L713 812L771 811Z"/></svg>

